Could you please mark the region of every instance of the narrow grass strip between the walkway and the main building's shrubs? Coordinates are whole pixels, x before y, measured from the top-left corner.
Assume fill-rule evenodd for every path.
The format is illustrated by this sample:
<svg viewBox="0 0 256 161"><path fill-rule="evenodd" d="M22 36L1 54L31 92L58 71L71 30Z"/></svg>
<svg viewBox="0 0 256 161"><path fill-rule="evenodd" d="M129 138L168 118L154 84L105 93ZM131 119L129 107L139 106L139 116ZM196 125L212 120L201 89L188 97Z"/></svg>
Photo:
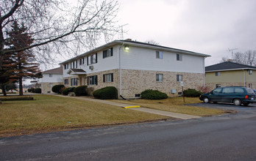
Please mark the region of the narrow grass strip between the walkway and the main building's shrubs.
<svg viewBox="0 0 256 161"><path fill-rule="evenodd" d="M170 111L174 113L184 113L195 116L214 116L224 113L225 111L213 108L199 108L196 106L186 105L201 102L199 98L182 97L168 98L165 100L112 100L114 102L122 102L132 105L141 105L143 108L152 108L161 111Z"/></svg>

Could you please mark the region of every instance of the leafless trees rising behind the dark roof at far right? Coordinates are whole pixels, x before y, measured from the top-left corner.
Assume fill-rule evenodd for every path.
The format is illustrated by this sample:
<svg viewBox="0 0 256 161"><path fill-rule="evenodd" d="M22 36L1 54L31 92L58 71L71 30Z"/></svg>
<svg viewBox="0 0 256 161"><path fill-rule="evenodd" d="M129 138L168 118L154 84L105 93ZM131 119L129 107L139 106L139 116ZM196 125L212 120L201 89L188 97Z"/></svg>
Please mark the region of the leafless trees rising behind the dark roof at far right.
<svg viewBox="0 0 256 161"><path fill-rule="evenodd" d="M222 57L221 62L228 61L227 57ZM256 50L247 50L244 53L236 52L232 54L232 61L238 64L256 66Z"/></svg>

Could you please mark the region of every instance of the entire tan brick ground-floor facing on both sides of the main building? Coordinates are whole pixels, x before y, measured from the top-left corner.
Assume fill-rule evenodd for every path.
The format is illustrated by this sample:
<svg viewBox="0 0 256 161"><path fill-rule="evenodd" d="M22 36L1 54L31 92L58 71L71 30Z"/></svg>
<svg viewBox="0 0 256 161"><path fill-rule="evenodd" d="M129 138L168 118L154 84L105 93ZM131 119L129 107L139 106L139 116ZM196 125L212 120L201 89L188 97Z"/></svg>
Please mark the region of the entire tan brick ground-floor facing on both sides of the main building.
<svg viewBox="0 0 256 161"><path fill-rule="evenodd" d="M113 82L103 82L103 75L113 73ZM156 81L156 75L163 74L163 82ZM85 85L88 85L88 76L98 76L98 85L89 85L88 91L92 95L93 91L102 89L106 86L115 86L118 89L118 95L120 95L119 88L119 70L107 70L104 72L95 72L83 76L85 78ZM177 97L178 92L182 92L180 82L177 82L177 75L183 75L184 89L198 89L199 86L203 86L203 74L200 73L188 73L188 72L161 72L161 71L147 71L147 70L121 70L121 95L125 98L135 98L135 94L141 94L141 91L146 89L156 89L168 94L168 97ZM68 85L70 86L71 78L68 78ZM64 78L66 79L66 78ZM80 86L80 79L78 79L78 86ZM175 94L171 94L171 90L176 90Z"/></svg>

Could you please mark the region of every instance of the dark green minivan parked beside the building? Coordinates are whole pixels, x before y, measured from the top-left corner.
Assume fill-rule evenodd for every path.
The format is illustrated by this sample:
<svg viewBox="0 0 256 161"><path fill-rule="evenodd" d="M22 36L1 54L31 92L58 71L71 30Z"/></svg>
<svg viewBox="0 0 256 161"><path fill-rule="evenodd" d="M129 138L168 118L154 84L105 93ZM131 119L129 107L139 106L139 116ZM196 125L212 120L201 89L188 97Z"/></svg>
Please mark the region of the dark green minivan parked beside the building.
<svg viewBox="0 0 256 161"><path fill-rule="evenodd" d="M235 105L249 105L256 102L255 92L243 86L218 87L207 94L202 94L199 99L205 103L230 102Z"/></svg>

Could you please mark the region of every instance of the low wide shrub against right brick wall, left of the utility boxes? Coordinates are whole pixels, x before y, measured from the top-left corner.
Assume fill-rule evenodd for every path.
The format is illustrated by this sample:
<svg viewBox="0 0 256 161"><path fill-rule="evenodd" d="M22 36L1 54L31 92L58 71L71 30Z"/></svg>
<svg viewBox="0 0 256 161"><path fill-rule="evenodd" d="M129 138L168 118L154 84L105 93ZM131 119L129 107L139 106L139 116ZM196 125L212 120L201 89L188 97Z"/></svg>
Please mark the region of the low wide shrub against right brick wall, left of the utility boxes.
<svg viewBox="0 0 256 161"><path fill-rule="evenodd" d="M141 98L146 100L161 100L168 98L168 95L161 91L146 89L141 92Z"/></svg>

